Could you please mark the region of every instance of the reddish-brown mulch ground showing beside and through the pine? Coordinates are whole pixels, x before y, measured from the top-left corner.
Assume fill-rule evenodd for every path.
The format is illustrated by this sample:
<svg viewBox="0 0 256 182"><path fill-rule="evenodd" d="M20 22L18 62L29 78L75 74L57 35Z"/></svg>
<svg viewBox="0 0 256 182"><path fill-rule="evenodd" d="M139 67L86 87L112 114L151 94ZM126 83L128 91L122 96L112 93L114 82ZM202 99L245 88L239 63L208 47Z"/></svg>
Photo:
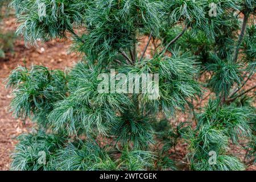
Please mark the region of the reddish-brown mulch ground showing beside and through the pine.
<svg viewBox="0 0 256 182"><path fill-rule="evenodd" d="M15 18L8 18L3 21L6 31L15 31ZM1 28L2 28L1 27ZM147 43L147 39L143 39L139 48L143 50L144 45ZM20 119L14 119L9 113L8 106L11 100L11 90L5 88L3 81L9 75L17 65L42 64L52 69L65 69L71 67L73 63L79 60L79 56L76 53L69 53L69 47L71 40L52 40L45 44L39 44L39 47L25 47L22 38L18 38L15 42L14 54L7 54L6 59L0 60L0 170L8 170L10 168L10 154L14 149L16 143L15 137L21 133L26 133L31 129L32 123L30 121L21 121ZM150 44L152 46L152 44ZM150 51L147 51L146 56L150 55ZM204 79L204 78L203 78ZM253 82L249 82L252 85ZM206 93L205 96L208 94ZM201 105L208 100L208 97L204 97ZM184 122L191 115L180 115L178 121ZM186 144L179 143L176 150L175 159L183 159L185 154ZM245 151L238 147L232 147L232 151L241 157L245 154ZM173 154L174 150L170 151ZM183 164L180 164L183 165ZM255 166L248 168L255 170Z"/></svg>

